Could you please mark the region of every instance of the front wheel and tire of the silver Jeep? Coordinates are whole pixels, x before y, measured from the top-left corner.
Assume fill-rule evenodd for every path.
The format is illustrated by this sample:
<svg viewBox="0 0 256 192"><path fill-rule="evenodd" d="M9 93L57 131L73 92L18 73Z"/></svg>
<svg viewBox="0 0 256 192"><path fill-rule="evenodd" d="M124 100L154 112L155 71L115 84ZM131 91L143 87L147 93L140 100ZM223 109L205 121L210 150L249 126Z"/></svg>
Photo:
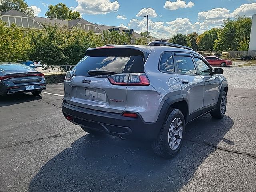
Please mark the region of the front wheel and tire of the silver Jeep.
<svg viewBox="0 0 256 192"><path fill-rule="evenodd" d="M225 91L222 91L217 103L217 108L212 112L210 112L211 116L216 119L222 119L226 113L226 108L227 108L227 94Z"/></svg>

